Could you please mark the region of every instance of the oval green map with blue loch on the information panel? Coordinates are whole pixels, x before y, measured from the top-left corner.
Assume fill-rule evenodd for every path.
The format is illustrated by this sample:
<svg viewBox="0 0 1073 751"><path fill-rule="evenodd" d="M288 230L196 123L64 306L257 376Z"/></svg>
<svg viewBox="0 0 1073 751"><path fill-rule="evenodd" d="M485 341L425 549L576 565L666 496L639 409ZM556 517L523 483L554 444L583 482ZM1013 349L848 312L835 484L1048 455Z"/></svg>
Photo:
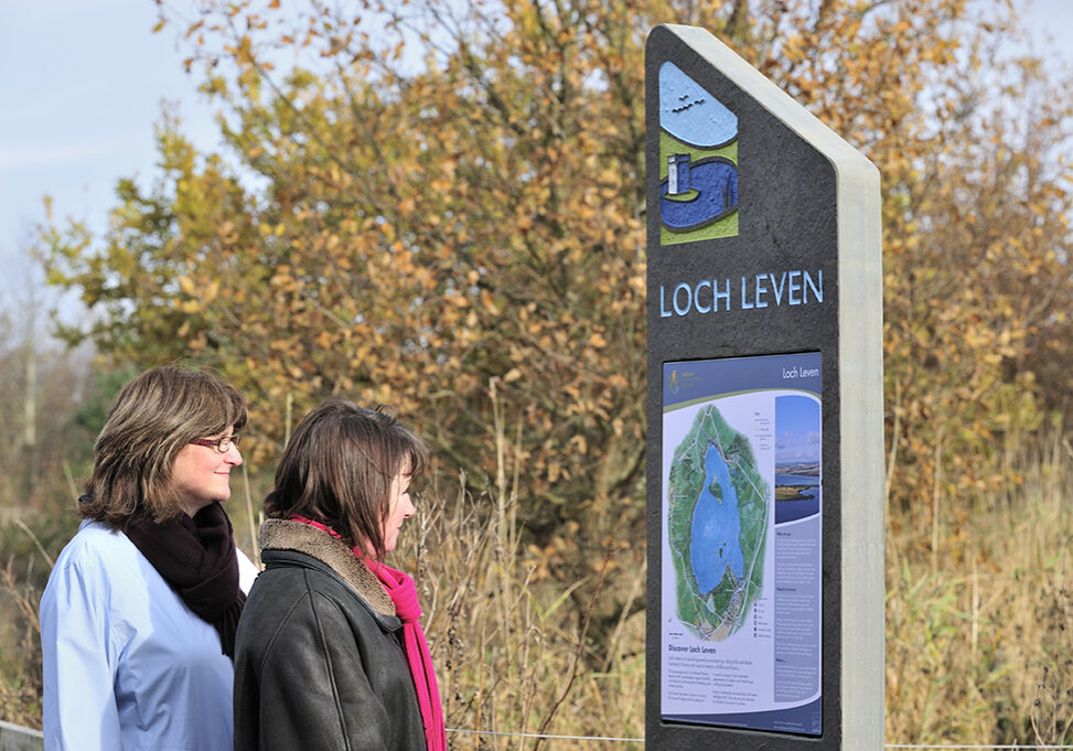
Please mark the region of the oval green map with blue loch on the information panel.
<svg viewBox="0 0 1073 751"><path fill-rule="evenodd" d="M678 618L722 641L763 588L769 492L749 440L704 406L670 463L667 534Z"/></svg>

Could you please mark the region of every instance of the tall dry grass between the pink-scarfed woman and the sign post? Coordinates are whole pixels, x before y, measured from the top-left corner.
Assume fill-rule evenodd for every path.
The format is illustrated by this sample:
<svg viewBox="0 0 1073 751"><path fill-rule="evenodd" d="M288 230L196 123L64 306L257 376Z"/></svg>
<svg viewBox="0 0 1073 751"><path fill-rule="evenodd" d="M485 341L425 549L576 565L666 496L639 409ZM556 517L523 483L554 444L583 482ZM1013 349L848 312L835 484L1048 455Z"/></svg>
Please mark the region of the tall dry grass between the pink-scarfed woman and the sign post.
<svg viewBox="0 0 1073 751"><path fill-rule="evenodd" d="M644 614L592 659L589 613L575 612L569 588L551 584L539 562L527 560L509 505L474 500L461 483L453 495L422 509L401 546L412 551L403 565L422 590L448 727L465 731L451 733L451 748L600 748L525 733L643 737ZM604 577L614 569L611 552ZM604 669L588 667L593 662Z"/></svg>

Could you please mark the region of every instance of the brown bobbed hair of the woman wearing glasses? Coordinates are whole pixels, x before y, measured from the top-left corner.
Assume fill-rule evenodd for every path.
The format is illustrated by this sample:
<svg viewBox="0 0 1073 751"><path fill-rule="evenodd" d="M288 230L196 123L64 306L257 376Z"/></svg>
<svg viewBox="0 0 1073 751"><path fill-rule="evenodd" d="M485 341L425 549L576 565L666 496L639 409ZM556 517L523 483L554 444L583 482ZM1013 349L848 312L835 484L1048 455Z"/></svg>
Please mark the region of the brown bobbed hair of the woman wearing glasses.
<svg viewBox="0 0 1073 751"><path fill-rule="evenodd" d="M141 514L158 523L178 516L182 508L168 490L175 455L195 438L242 430L248 418L243 395L208 373L146 371L108 410L79 514L116 529Z"/></svg>

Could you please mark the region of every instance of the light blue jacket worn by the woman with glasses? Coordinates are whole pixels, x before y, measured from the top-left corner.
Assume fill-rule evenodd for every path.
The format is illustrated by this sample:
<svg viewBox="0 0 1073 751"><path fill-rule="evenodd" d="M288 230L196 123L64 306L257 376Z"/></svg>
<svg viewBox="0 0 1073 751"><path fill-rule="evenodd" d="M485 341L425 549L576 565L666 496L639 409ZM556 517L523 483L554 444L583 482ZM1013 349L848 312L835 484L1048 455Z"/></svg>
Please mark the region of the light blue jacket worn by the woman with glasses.
<svg viewBox="0 0 1073 751"><path fill-rule="evenodd" d="M238 551L242 588L257 569ZM83 522L41 598L45 751L230 751L234 666L126 535Z"/></svg>

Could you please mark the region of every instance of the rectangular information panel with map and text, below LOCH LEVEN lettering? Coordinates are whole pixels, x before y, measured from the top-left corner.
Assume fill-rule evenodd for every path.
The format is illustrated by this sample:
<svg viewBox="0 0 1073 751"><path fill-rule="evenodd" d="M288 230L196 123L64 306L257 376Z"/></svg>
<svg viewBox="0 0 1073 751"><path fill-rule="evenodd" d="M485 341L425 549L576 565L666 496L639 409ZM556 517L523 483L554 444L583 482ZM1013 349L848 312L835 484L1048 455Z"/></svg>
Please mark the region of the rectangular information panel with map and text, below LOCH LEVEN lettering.
<svg viewBox="0 0 1073 751"><path fill-rule="evenodd" d="M663 365L664 720L823 732L819 353Z"/></svg>

